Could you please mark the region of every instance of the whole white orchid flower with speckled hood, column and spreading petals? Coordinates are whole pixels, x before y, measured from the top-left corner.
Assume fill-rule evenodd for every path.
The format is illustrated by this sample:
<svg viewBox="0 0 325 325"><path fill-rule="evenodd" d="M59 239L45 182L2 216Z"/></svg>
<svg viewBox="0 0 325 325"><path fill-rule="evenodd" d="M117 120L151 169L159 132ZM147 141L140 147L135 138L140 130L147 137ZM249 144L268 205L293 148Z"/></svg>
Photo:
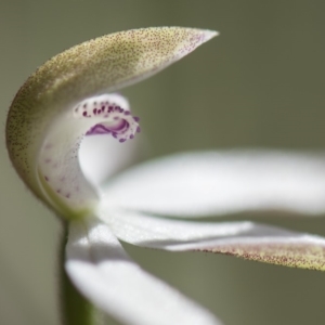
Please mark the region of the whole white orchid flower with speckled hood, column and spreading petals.
<svg viewBox="0 0 325 325"><path fill-rule="evenodd" d="M139 118L115 91L154 75L217 35L160 27L81 43L31 75L9 112L6 144L13 166L68 227L67 275L94 307L123 324L221 323L141 269L119 240L325 269L322 237L248 221L181 220L243 210L322 213L322 155L185 153L144 162L115 176L106 185L84 176L78 157L84 136L107 134L122 146L140 132ZM82 157L80 160L82 164ZM119 164L116 153L112 152L110 160ZM78 324L96 324L87 322Z"/></svg>

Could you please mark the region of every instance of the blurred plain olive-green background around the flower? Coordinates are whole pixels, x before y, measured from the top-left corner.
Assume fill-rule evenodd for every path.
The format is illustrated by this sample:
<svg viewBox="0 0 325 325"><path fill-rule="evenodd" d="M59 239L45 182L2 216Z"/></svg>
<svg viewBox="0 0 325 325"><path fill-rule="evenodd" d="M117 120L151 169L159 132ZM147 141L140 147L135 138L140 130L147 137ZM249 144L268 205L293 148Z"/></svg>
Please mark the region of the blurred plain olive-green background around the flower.
<svg viewBox="0 0 325 325"><path fill-rule="evenodd" d="M52 55L113 31L217 29L217 39L123 91L142 117L143 158L221 147L324 150L324 12L323 0L1 0L0 324L60 324L60 223L18 180L4 146L8 107L29 74ZM322 218L232 217L325 235ZM126 247L226 325L325 322L321 272Z"/></svg>

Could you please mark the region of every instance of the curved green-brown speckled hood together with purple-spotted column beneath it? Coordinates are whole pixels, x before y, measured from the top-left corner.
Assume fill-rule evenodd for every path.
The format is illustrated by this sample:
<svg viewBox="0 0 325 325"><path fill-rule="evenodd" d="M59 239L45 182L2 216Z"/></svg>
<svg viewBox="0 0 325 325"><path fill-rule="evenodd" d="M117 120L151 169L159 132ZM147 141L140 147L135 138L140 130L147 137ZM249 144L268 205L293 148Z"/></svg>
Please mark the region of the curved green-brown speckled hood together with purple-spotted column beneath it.
<svg viewBox="0 0 325 325"><path fill-rule="evenodd" d="M61 216L90 213L99 195L79 166L82 138L104 131L123 142L140 130L136 118L109 93L152 76L216 35L180 27L133 29L52 57L10 107L6 145L18 174Z"/></svg>

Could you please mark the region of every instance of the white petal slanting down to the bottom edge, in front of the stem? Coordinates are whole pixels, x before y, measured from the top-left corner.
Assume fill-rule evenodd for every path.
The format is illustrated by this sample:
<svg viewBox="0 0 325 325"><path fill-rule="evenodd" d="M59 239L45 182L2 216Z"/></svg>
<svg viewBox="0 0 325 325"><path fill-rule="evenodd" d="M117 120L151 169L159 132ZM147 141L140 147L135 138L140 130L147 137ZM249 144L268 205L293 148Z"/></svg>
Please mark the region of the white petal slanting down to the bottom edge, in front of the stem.
<svg viewBox="0 0 325 325"><path fill-rule="evenodd" d="M131 261L108 226L99 221L70 224L66 258L66 271L81 294L125 324L220 324Z"/></svg>

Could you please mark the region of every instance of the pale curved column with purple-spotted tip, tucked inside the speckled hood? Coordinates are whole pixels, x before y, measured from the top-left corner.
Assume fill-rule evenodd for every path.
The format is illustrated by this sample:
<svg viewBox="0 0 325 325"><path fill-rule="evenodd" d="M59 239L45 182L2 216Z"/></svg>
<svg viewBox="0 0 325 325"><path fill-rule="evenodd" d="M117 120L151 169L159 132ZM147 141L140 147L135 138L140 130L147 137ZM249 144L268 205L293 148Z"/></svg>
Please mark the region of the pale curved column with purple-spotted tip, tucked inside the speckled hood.
<svg viewBox="0 0 325 325"><path fill-rule="evenodd" d="M39 159L39 178L44 194L73 214L89 210L98 202L98 190L84 178L78 152L84 135L112 134L119 142L140 132L121 95L103 94L83 100L50 128Z"/></svg>

